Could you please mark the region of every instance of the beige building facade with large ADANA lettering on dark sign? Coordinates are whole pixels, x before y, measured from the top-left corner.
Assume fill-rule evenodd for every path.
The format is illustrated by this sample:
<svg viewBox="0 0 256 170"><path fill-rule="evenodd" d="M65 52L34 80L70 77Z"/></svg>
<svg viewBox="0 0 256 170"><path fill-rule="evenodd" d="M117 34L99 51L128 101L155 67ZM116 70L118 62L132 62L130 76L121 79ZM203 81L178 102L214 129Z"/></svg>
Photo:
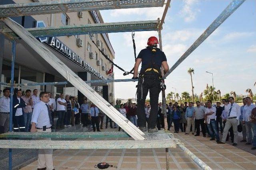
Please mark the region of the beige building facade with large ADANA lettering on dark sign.
<svg viewBox="0 0 256 170"><path fill-rule="evenodd" d="M34 1L40 2L42 0L1 0L0 4L31 3ZM104 22L99 11L23 16L13 17L12 19L25 28L85 25ZM47 37L38 40L44 43L54 55L78 74L82 80L113 79L113 73L107 75L108 70L112 67L112 63L98 50L98 48L100 48L104 54L113 61L115 53L107 33ZM92 40L96 45L92 43ZM1 82L10 82L11 49L11 41L6 39L3 35L0 35ZM15 83L32 83L64 82L66 80L24 41L18 40L16 41L14 81ZM98 94L103 96L105 100L113 102L114 89L112 84L113 83L93 83L89 85L94 88ZM1 86L1 90L3 90L3 88L5 87ZM21 86L19 88L24 91L26 91L26 89L49 91L54 93L54 96L58 96L58 94L64 92L70 96L78 96L78 98L83 97L83 94L71 84L56 86Z"/></svg>

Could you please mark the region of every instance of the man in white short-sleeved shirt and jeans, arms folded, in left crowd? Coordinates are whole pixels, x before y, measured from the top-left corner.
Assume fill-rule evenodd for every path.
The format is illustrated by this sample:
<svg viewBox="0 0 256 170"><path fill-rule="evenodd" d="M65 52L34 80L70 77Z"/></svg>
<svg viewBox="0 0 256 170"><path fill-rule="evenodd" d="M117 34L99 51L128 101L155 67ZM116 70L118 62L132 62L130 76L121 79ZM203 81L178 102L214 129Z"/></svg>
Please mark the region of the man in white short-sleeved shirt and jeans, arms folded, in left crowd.
<svg viewBox="0 0 256 170"><path fill-rule="evenodd" d="M60 98L57 99L57 115L58 115L58 121L56 125L56 129L64 128L64 117L66 112L66 100L64 99L64 93L60 94Z"/></svg>

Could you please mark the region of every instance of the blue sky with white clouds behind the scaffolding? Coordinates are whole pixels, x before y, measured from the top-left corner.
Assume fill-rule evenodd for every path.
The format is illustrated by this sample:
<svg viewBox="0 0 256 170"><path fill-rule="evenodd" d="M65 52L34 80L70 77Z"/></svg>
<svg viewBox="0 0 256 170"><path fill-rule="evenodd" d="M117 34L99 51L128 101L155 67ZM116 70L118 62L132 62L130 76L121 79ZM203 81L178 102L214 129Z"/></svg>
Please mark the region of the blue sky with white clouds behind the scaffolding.
<svg viewBox="0 0 256 170"><path fill-rule="evenodd" d="M203 31L228 6L231 0L172 0L162 30L163 51L171 67L194 43ZM104 22L157 20L164 7L135 8L100 11ZM136 53L146 47L148 37L158 37L157 31L135 32ZM131 33L110 33L115 51L114 63L124 70L134 66ZM256 1L246 0L212 35L210 35L165 80L166 94L191 92L188 68L194 68L194 93L200 94L206 84L212 85L222 95L235 91L246 95L245 90L256 82ZM115 79L131 78L114 67ZM134 98L135 82L114 84L115 98ZM176 90L175 90L176 88ZM161 95L160 95L161 96ZM149 98L149 96L148 96Z"/></svg>

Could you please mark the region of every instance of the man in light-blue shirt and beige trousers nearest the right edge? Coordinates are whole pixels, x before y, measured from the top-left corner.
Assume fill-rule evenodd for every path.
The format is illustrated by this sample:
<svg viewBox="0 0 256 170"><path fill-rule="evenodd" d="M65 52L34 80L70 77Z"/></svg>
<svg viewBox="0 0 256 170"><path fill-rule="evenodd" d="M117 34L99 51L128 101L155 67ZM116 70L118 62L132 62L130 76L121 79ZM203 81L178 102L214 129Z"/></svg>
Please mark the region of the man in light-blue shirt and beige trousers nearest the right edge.
<svg viewBox="0 0 256 170"><path fill-rule="evenodd" d="M250 115L252 113L252 109L254 109L256 106L252 103L252 100L250 97L245 98L246 105L244 106L243 110L243 121L242 123L245 123L245 128L246 128L246 137L247 137L247 142L246 145L251 145L252 144L252 122L250 119Z"/></svg>

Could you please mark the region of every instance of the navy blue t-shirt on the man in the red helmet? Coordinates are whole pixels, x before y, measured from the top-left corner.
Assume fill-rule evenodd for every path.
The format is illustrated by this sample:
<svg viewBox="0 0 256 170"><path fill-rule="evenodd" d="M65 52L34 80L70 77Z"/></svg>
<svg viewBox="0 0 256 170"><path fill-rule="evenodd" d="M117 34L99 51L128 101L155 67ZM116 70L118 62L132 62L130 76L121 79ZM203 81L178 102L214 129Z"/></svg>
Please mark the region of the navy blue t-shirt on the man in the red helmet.
<svg viewBox="0 0 256 170"><path fill-rule="evenodd" d="M144 71L146 67L150 66L151 60L152 60L152 52L150 48L143 49L140 51L137 58L142 59L141 69L140 72ZM161 68L162 62L167 61L166 56L164 52L162 52L160 49L157 48L156 53L153 57L153 61L155 63L155 66L157 66L157 69Z"/></svg>

